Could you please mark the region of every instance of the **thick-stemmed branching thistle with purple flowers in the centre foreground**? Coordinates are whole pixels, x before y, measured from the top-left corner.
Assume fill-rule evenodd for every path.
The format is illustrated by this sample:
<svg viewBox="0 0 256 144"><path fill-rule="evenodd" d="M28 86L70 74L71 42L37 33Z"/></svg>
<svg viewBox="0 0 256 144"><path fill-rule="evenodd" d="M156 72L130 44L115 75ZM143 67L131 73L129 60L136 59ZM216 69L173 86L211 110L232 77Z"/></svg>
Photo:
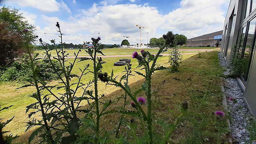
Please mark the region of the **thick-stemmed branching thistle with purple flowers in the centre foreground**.
<svg viewBox="0 0 256 144"><path fill-rule="evenodd" d="M130 90L130 87L128 86L127 83L122 84L121 81L117 81L116 78L113 77L113 70L112 70L112 74L111 76L108 77L108 84L111 85L115 85L117 87L121 87L126 94L132 99L132 105L134 107L136 107L136 109L138 110L138 113L142 115L142 118L144 119L144 121L147 121L147 129L148 129L148 137L149 140L148 142L150 144L153 143L154 138L153 138L153 127L152 127L152 96L151 96L151 79L152 79L152 74L157 71L157 70L163 70L163 69L168 69L165 68L163 66L158 67L156 66L156 60L159 57L159 54L166 52L168 49L168 46L170 44L173 43L174 40L174 35L172 34L172 32L168 32L166 35L163 36L166 40L166 43L160 47L159 51L157 52L157 54L155 56L151 55L150 52L145 51L145 50L141 50L141 55L138 54L138 52L134 52L132 54L132 58L133 59L137 59L138 63L139 63L139 68L144 69L145 70L145 74L142 74L138 71L135 71L135 73L137 73L140 76L143 76L145 78L145 83L142 85L142 88L139 89L138 91L132 93ZM145 99L144 98L136 98L137 94L141 91L146 91L146 95L147 95L147 107L148 107L148 111L147 113L142 109L142 104L145 103ZM127 114L133 114L137 113L137 112L130 112ZM167 134L166 137L169 137L170 135ZM167 140L166 138L164 140Z"/></svg>

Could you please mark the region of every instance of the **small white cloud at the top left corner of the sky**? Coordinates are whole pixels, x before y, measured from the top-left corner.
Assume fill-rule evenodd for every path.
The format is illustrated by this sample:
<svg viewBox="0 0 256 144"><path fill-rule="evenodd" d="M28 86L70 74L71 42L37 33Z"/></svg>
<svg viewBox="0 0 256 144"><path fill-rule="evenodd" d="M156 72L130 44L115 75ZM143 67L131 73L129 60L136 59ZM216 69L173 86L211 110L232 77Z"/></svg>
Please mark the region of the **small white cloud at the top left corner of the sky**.
<svg viewBox="0 0 256 144"><path fill-rule="evenodd" d="M65 4L62 0L60 0L60 2L57 2L56 0L8 0L6 2L18 4L22 7L31 6L43 12L57 12L60 9L63 9L71 13L67 4Z"/></svg>

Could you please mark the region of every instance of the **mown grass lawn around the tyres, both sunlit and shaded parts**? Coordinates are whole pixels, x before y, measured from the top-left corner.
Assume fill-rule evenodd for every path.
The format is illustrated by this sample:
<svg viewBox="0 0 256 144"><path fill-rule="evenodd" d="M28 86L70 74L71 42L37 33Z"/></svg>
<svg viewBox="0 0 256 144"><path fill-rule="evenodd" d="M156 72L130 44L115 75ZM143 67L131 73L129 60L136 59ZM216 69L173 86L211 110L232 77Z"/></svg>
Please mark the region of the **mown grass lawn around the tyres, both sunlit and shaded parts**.
<svg viewBox="0 0 256 144"><path fill-rule="evenodd" d="M124 70L124 66L116 67L113 66L115 61L118 61L119 58L103 58L107 63L103 65L103 72L111 73L112 69L114 69L114 75L120 78L122 75L122 71ZM69 61L73 61L73 59L69 59ZM76 67L73 69L73 73L79 74L80 71L78 68L83 67L83 64L90 64L92 66L91 61L78 62ZM159 57L157 62L159 65L163 65L169 67L168 57ZM138 62L135 59L132 59L132 70L139 70L136 68L138 66ZM142 76L136 75L131 76L129 79L129 86L132 91L136 91L140 88L141 84L143 84L144 78ZM170 73L167 70L157 71L152 76L152 89L159 91L157 97L157 105L155 110L153 111L153 121L158 121L159 119L163 119L168 123L172 123L175 120L175 114L179 113L179 108L182 100L188 100L189 104L190 100L188 97L188 92L186 91L183 84L179 81L174 80L174 77L180 79L187 79L191 77L192 82L187 83L189 89L200 90L196 91L196 102L199 104L203 99L203 103L200 103L202 109L198 109L197 111L193 111L191 107L189 107L187 116L181 120L181 124L178 125L177 129L171 136L170 143L184 143L187 138L191 137L191 115L190 113L196 113L196 117L198 121L203 121L207 118L207 123L201 129L202 143L216 143L216 136L218 134L218 125L215 121L214 112L216 110L222 110L222 93L220 89L220 76L222 76L221 67L219 65L218 54L217 52L204 52L201 53L201 58L198 58L198 54L190 54L184 55L182 63L180 64L180 72ZM88 82L92 79L92 74L88 74L84 76L82 79L83 83ZM73 83L76 82L76 78L73 79ZM166 82L163 84L162 81ZM52 81L52 85L58 84L58 81ZM22 85L22 84L19 84ZM25 132L26 124L24 122L28 121L27 114L25 114L26 106L35 102L30 97L26 95L31 94L34 90L32 87L16 89L19 87L18 84L7 84L2 83L0 85L0 89L2 90L2 95L0 95L0 105L2 107L6 107L9 105L14 105L9 110L5 110L0 113L0 117L4 117L5 119L11 118L15 115L13 121L7 125L4 130L11 131L14 135L20 135L20 138L16 139L15 142L27 143L28 137L32 130ZM161 85L161 86L160 86ZM160 86L160 87L159 87ZM57 90L54 90L55 92ZM58 90L58 92L63 92ZM81 94L82 90L78 92ZM123 90L120 88L116 88L115 86L105 85L102 82L99 82L99 93L105 94L105 100L113 100L114 104L109 107L109 109L116 109L117 107L122 106L123 101L115 101L120 95L124 94ZM205 94L206 93L206 94ZM204 96L205 95L205 96ZM138 97L146 98L144 92L140 92ZM130 101L130 99L128 99ZM84 103L86 107L86 103ZM128 105L127 110L133 110L133 108ZM146 109L146 106L143 107ZM166 108L170 108L173 113L170 113ZM106 126L105 128L109 131L114 130L113 127L116 127L118 124L119 114L108 114L104 115L101 118L101 127ZM130 116L125 116L126 119L131 119ZM139 121L136 120L135 121ZM107 125L106 125L107 124ZM163 129L154 125L156 132L163 132ZM127 126L122 125L120 128L120 132L127 134L129 129ZM138 135L141 135L140 126L138 126ZM225 136L223 137L225 140ZM34 141L36 143L36 141Z"/></svg>

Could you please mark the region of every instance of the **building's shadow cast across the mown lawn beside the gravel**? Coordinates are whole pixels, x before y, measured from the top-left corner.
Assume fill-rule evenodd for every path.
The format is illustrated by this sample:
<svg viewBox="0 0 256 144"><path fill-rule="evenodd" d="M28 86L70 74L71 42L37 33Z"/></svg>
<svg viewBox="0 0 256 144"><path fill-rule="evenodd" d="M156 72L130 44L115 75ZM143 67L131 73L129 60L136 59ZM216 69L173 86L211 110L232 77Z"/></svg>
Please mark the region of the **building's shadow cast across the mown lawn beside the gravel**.
<svg viewBox="0 0 256 144"><path fill-rule="evenodd" d="M115 69L114 69L115 71ZM201 53L201 58L198 58L198 54L185 59L180 64L180 72L171 73L167 70L157 71L152 76L152 90L156 90L161 85L161 88L158 90L159 94L157 97L157 105L155 111L153 111L153 121L158 121L159 119L164 119L168 123L172 123L175 120L175 114L178 114L180 104L182 100L189 100L188 92L186 91L183 84L179 81L174 80L174 77L178 77L180 79L186 79L187 77L191 77L192 83L188 82L188 87L194 90L200 90L196 92L196 96L198 100L207 92L207 97L204 99L204 108L200 109L198 119L201 120L204 117L209 117L210 119L214 119L213 112L216 110L223 110L222 105L222 97L220 90L220 79L221 76L221 68L218 61L217 52L204 52ZM162 83L165 80L166 83ZM142 76L131 76L129 80L129 86L133 92L138 90L143 84L144 78ZM100 82L101 83L101 82ZM101 83L100 85L104 85ZM105 87L104 87L105 88ZM114 92L111 92L106 95L103 101L112 100L114 101L120 95L124 95L124 91L120 88L116 88L114 86L107 87L106 89L114 89ZM153 94L154 95L154 94ZM138 97L146 97L145 92L140 92ZM146 99L147 100L147 99ZM130 105L131 99L128 98L128 105L126 106L126 110L134 110ZM189 103L190 104L190 103ZM123 105L123 99L119 99L118 101L113 102L113 104L108 108L109 110L116 109ZM173 111L171 114L166 108L170 108ZM146 105L143 106L143 109L147 111ZM192 109L189 109L188 113L193 112ZM116 127L119 121L120 114L108 114L101 118L101 127L105 126L105 129L108 131L114 130L113 127ZM127 120L130 120L131 116L125 116ZM138 121L138 120L137 120ZM163 132L161 128L157 125L155 126L155 131ZM176 131L172 135L173 143L182 143L183 140L188 138L191 135L191 116L187 115L184 117L182 124L178 126ZM140 126L139 126L140 127ZM120 133L127 134L129 129L122 125L120 128ZM216 123L209 123L205 127L202 128L204 137L207 137L209 141L205 141L204 143L214 143L215 137L217 134L216 131ZM15 141L27 142L28 137L30 136L31 131L24 133ZM140 135L141 132L138 132Z"/></svg>

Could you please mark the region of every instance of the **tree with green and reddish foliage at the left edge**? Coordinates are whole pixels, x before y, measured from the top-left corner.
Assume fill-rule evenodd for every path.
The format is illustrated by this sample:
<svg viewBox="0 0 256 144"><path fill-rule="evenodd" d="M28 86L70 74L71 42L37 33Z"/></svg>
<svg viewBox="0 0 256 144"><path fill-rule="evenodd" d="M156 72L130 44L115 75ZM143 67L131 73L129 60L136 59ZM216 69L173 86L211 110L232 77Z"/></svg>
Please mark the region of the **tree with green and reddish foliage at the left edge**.
<svg viewBox="0 0 256 144"><path fill-rule="evenodd" d="M24 52L24 37L20 32L25 29L29 30L28 35L34 35L35 27L18 9L5 6L0 9L0 67L12 63L14 57Z"/></svg>

